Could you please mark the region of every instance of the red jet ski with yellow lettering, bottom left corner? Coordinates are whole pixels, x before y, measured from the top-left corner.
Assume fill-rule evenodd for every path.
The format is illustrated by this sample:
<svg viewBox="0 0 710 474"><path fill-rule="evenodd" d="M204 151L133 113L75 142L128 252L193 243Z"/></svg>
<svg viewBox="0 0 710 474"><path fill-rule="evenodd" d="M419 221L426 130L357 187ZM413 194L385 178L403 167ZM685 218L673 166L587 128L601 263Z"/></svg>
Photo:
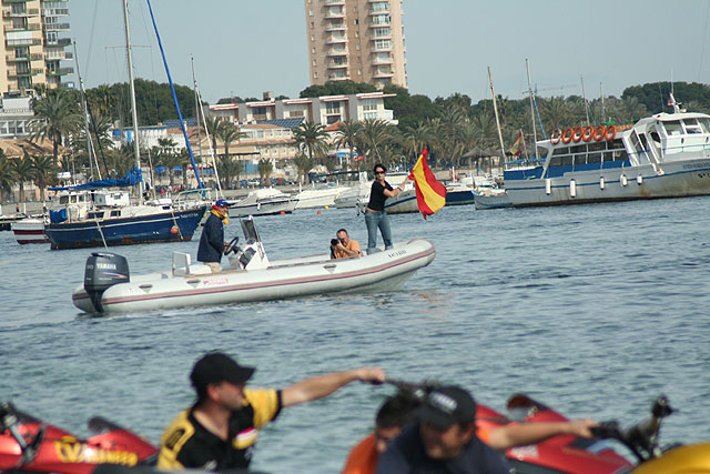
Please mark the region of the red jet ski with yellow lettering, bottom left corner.
<svg viewBox="0 0 710 474"><path fill-rule="evenodd" d="M145 438L102 417L89 421L95 435L81 440L0 402L0 472L88 474L102 464L135 466L155 458Z"/></svg>

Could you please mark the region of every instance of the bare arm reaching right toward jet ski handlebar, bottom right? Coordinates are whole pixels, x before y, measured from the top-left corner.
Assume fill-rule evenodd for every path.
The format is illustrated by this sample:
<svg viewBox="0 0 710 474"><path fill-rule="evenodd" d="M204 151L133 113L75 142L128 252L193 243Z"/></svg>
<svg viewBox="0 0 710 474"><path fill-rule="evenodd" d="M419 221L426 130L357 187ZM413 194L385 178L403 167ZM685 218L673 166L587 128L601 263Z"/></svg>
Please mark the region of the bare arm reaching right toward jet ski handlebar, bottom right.
<svg viewBox="0 0 710 474"><path fill-rule="evenodd" d="M589 428L592 426L597 426L597 422L589 418L572 422L509 424L491 428L488 433L488 445L494 450L507 450L514 446L536 444L558 434L591 437Z"/></svg>

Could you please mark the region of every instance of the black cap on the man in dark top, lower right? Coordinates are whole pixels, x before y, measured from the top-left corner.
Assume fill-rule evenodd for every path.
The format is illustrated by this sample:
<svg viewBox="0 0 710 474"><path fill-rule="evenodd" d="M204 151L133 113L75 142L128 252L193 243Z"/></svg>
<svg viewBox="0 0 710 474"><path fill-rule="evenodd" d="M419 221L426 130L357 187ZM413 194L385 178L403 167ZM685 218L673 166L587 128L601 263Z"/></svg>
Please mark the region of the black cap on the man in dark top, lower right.
<svg viewBox="0 0 710 474"><path fill-rule="evenodd" d="M440 386L427 395L417 409L416 417L440 430L448 430L454 423L473 423L476 420L476 401L460 386Z"/></svg>

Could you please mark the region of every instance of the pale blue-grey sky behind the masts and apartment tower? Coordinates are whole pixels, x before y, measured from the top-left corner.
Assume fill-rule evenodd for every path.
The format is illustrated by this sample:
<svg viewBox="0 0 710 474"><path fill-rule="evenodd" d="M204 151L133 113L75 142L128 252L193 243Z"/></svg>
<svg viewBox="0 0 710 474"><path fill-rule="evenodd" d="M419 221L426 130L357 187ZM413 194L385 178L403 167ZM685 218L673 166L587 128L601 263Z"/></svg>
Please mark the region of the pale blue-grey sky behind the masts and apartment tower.
<svg viewBox="0 0 710 474"><path fill-rule="evenodd" d="M203 100L296 98L310 85L303 0L151 4L173 81L192 87L194 64ZM121 6L70 0L87 88L128 80ZM412 94L488 99L490 67L496 93L521 99L526 59L542 97L581 95L582 82L588 99L657 81L710 83L710 0L404 0L403 9ZM129 0L129 10L135 75L166 82L148 0Z"/></svg>

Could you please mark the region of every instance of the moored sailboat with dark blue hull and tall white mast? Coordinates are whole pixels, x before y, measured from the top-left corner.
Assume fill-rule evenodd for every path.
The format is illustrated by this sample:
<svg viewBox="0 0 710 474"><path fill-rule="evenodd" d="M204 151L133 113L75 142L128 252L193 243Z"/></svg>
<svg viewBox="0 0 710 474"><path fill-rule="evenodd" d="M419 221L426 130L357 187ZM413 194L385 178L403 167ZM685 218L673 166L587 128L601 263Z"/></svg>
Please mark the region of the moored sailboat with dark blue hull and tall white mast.
<svg viewBox="0 0 710 474"><path fill-rule="evenodd" d="M63 192L50 212L50 222L45 226L52 249L190 241L206 209L204 199L168 204L144 202L128 0L123 0L123 17L135 165L120 180L109 179L78 186L50 189ZM179 115L183 122L180 110ZM190 152L192 155L192 150ZM197 182L202 188L199 174ZM120 189L129 186L139 189L138 203L131 202L129 191Z"/></svg>

